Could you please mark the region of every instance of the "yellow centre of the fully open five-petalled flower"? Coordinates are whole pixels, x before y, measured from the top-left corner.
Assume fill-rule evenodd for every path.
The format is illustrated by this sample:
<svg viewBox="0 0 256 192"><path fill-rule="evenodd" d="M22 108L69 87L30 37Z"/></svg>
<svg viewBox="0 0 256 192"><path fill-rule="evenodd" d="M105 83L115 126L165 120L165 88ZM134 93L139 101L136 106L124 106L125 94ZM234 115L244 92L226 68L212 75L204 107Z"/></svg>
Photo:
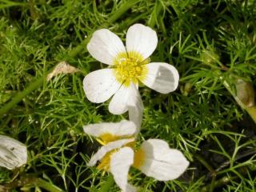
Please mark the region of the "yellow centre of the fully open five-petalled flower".
<svg viewBox="0 0 256 192"><path fill-rule="evenodd" d="M135 51L123 52L114 59L114 76L118 82L130 86L130 82L138 84L146 78L148 72L146 64L150 59L144 59L141 54Z"/></svg>

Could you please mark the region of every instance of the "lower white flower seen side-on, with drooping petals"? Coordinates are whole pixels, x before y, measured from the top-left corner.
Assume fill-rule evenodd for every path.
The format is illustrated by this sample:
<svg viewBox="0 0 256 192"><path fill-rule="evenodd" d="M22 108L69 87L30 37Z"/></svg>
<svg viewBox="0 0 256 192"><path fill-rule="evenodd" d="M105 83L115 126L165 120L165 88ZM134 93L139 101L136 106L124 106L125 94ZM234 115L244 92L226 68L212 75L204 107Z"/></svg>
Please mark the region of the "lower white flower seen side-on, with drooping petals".
<svg viewBox="0 0 256 192"><path fill-rule="evenodd" d="M132 124L133 122L122 121L84 127L86 133L90 132L91 135L97 137L102 134L94 134L96 131L105 133L105 130L109 130L109 134L122 135L121 140L107 142L105 146L102 146L87 165L94 166L100 161L98 169L110 171L114 175L117 185L125 192L136 191L136 188L128 183L130 166L134 166L142 173L159 181L178 178L189 166L184 155L179 150L170 149L168 143L160 139L149 139L142 142L140 149L134 152L136 130L132 129ZM122 133L125 129L126 132ZM92 132L94 133L92 134ZM126 138L123 138L124 136Z"/></svg>

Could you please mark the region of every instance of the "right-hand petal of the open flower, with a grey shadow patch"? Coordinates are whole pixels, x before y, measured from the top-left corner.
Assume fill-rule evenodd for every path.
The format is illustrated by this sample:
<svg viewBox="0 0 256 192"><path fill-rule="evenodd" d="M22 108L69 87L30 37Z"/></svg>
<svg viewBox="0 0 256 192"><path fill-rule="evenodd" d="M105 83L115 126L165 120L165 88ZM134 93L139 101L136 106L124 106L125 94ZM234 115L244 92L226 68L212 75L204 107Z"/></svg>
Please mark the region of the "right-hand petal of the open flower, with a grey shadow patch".
<svg viewBox="0 0 256 192"><path fill-rule="evenodd" d="M178 70L165 62L150 62L148 74L142 82L151 89L168 94L178 87Z"/></svg>

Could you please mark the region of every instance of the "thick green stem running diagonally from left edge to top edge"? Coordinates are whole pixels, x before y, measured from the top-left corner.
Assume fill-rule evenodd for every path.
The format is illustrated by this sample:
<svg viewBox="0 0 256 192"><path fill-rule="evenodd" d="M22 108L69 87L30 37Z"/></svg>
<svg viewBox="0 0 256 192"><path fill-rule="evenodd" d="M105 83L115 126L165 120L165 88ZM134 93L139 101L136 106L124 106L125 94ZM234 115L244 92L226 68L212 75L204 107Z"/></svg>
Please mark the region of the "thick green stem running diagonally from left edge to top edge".
<svg viewBox="0 0 256 192"><path fill-rule="evenodd" d="M124 14L127 10L129 10L132 6L134 6L134 4L138 2L140 2L140 0L130 0L122 4L122 6L120 6L120 8L108 19L105 26L108 26L110 23L115 22L118 18L122 16L122 14ZM89 38L86 38L83 42L81 42L80 45L74 47L74 49L70 51L70 57L73 58L77 56L79 53L81 53L82 50L85 49L88 41L89 41ZM30 94L33 90L36 90L38 87L42 86L44 81L45 81L45 76L38 78L34 82L32 82L29 86L26 86L25 90L16 94L10 102L7 102L5 106L2 106L2 108L0 109L0 118L2 117L3 114L6 114L10 109L12 109L18 102L21 102L22 99L25 98L27 94Z"/></svg>

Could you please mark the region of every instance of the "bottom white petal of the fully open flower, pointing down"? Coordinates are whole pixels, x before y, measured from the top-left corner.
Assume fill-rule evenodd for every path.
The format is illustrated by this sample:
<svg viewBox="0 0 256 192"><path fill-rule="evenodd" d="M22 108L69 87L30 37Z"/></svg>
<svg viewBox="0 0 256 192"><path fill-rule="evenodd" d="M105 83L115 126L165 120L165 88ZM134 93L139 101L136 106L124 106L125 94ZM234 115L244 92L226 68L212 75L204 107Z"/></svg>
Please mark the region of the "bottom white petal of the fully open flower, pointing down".
<svg viewBox="0 0 256 192"><path fill-rule="evenodd" d="M133 84L133 83L131 83ZM134 89L135 86L124 86L122 85L120 89L114 94L111 99L109 110L112 114L123 114L128 110L128 102L134 103Z"/></svg>

